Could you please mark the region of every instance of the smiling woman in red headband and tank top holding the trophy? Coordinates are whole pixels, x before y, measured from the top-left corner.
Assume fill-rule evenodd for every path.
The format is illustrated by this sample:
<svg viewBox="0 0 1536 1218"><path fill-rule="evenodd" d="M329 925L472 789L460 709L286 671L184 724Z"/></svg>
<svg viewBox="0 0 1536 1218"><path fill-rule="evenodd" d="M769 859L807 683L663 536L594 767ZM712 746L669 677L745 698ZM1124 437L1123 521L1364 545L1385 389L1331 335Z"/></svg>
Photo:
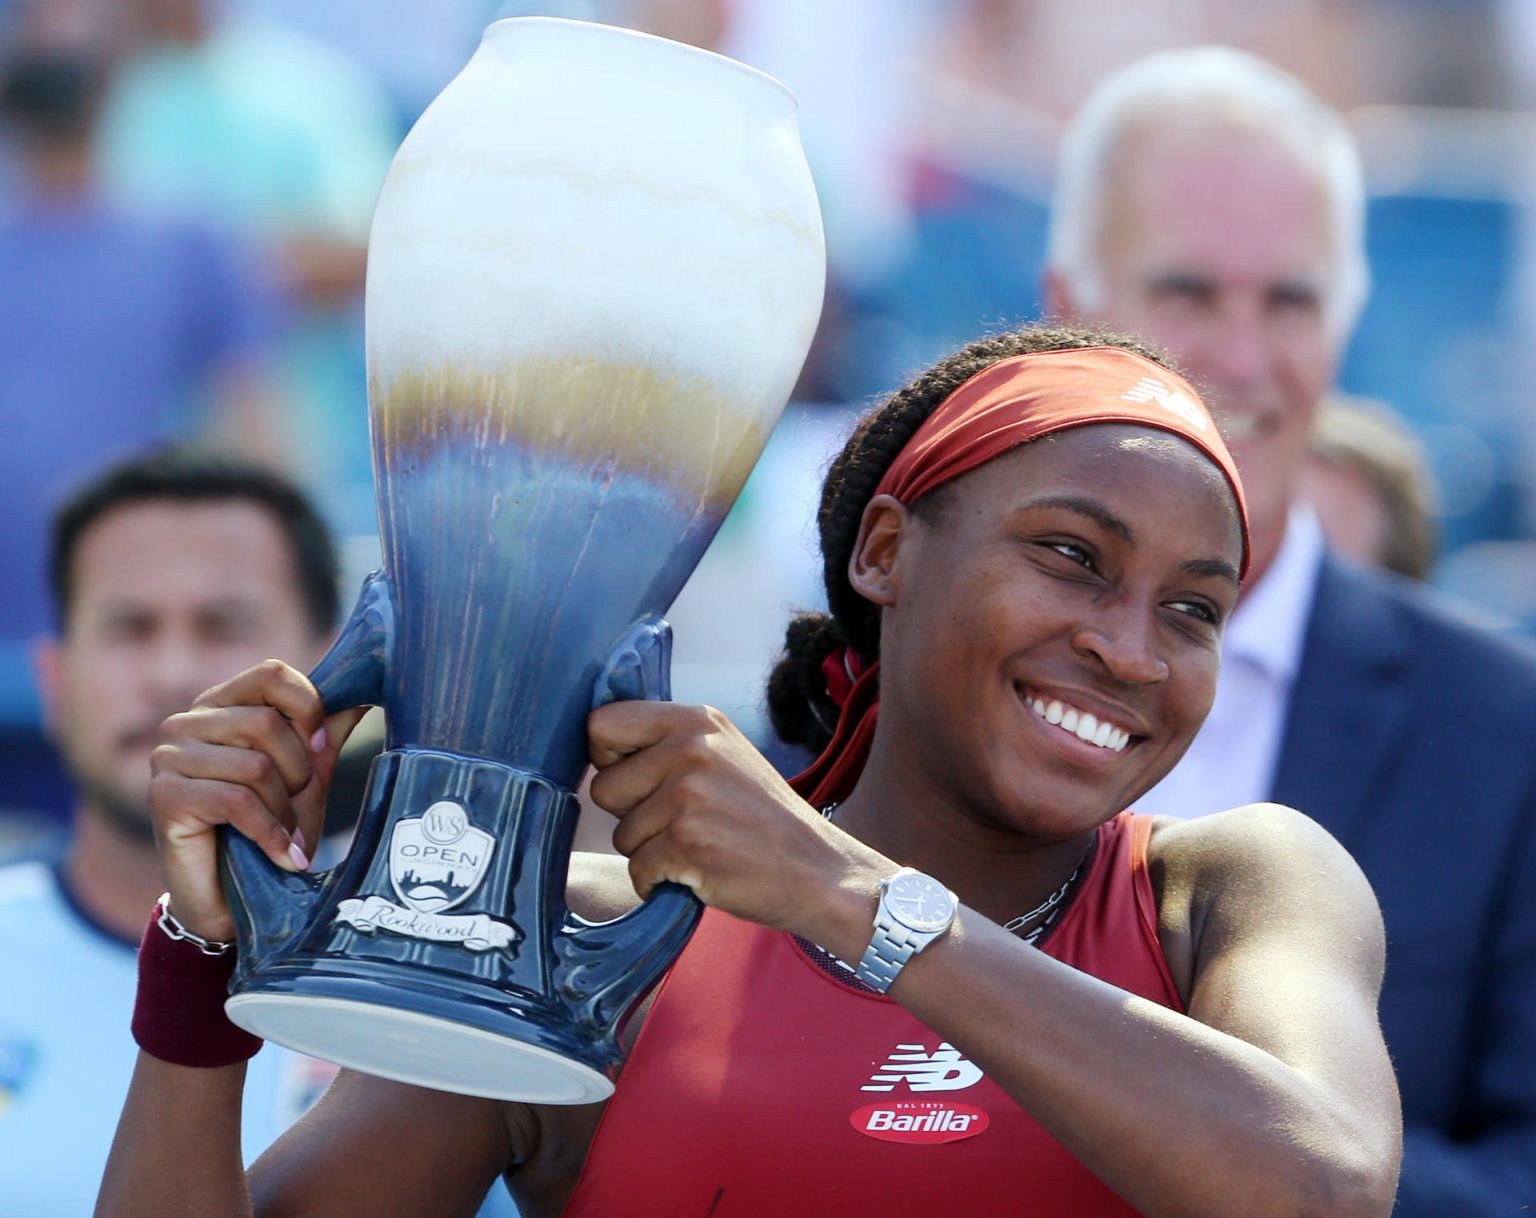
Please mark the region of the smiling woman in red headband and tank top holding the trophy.
<svg viewBox="0 0 1536 1218"><path fill-rule="evenodd" d="M151 978L135 1031L172 1060L140 1055L98 1213L470 1213L504 1172L530 1218L1385 1215L1364 879L1287 809L1121 813L1210 705L1246 562L1230 458L1155 359L989 338L854 433L822 501L831 616L791 627L770 694L826 745L805 799L708 708L593 713L628 869L579 859L573 908L662 880L710 906L607 1106L343 1074L247 1198L241 1069L172 1064ZM315 840L349 726L276 664L167 720L181 923L229 937L217 823L280 863Z"/></svg>

